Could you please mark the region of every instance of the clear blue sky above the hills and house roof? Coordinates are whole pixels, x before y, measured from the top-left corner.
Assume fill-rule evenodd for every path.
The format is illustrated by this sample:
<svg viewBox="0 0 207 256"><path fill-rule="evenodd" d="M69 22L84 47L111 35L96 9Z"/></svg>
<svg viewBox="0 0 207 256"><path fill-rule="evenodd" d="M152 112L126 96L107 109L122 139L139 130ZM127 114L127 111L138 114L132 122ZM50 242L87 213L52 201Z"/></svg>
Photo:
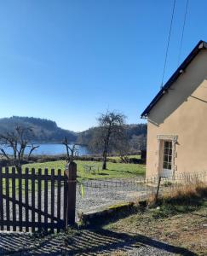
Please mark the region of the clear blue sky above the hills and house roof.
<svg viewBox="0 0 207 256"><path fill-rule="evenodd" d="M177 0L164 80L177 67L186 0ZM0 1L0 117L83 131L99 113L128 123L158 92L173 0ZM207 40L207 1L189 0L181 60Z"/></svg>

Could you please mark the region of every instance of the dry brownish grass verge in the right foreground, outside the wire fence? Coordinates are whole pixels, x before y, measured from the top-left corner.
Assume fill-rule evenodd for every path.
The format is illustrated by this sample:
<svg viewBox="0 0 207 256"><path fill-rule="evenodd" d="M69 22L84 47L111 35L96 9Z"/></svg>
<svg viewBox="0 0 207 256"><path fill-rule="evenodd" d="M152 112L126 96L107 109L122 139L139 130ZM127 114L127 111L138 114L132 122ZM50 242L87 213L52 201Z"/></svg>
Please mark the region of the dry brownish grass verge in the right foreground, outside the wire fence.
<svg viewBox="0 0 207 256"><path fill-rule="evenodd" d="M156 208L105 226L106 230L143 235L207 255L207 186L186 183L158 199ZM152 199L151 199L152 200Z"/></svg>

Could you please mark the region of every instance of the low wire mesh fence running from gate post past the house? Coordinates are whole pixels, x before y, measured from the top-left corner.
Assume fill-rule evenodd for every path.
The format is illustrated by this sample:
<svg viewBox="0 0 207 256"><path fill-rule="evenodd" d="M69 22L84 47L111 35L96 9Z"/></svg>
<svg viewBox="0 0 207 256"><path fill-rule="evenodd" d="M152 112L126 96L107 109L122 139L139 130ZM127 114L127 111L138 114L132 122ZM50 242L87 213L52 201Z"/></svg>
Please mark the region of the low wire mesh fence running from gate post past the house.
<svg viewBox="0 0 207 256"><path fill-rule="evenodd" d="M144 201L150 196L172 194L183 186L207 184L207 172L181 173L174 177L135 177L123 179L87 180L77 186L77 212L95 212L104 207L129 201Z"/></svg>

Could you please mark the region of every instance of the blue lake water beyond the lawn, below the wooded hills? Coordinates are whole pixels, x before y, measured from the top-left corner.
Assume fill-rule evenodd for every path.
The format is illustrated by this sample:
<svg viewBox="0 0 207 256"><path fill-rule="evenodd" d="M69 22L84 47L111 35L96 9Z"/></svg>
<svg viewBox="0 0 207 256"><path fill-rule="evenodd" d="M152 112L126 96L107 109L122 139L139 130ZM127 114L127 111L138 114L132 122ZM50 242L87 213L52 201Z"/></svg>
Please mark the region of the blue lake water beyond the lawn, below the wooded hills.
<svg viewBox="0 0 207 256"><path fill-rule="evenodd" d="M66 154L66 146L60 143L45 143L45 144L38 144L39 148L36 148L32 154ZM89 154L89 150L87 147L79 146L78 148L78 155L87 155ZM4 148L5 151L9 154L12 153L10 148ZM29 148L26 148L26 154L29 152Z"/></svg>

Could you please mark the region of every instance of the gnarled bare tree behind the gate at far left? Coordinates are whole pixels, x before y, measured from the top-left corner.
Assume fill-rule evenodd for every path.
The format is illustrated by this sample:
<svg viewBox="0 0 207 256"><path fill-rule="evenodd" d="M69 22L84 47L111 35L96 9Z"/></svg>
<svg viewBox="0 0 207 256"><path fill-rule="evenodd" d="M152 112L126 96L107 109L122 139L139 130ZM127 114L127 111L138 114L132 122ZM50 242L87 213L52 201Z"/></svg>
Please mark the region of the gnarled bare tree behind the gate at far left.
<svg viewBox="0 0 207 256"><path fill-rule="evenodd" d="M31 148L27 159L30 158L32 152L39 146L34 146L30 142L30 137L32 135L32 128L16 126L14 131L9 131L3 134L0 134L0 154L3 155L6 159L12 160L14 166L19 169L21 167L22 160L26 156L26 148ZM5 148L10 148L12 153L9 154L6 152Z"/></svg>

